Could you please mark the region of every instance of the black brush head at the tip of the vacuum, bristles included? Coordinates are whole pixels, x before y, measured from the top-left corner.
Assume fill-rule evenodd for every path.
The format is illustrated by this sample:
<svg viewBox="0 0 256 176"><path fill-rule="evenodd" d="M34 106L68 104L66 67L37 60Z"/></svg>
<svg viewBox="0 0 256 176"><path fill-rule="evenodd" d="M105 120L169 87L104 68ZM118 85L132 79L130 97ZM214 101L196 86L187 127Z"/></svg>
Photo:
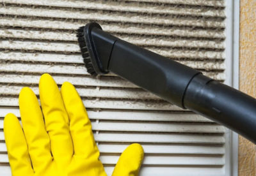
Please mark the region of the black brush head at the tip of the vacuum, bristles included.
<svg viewBox="0 0 256 176"><path fill-rule="evenodd" d="M102 31L99 24L91 22L77 29L77 39L88 73L93 76L108 73L111 51L118 38Z"/></svg>

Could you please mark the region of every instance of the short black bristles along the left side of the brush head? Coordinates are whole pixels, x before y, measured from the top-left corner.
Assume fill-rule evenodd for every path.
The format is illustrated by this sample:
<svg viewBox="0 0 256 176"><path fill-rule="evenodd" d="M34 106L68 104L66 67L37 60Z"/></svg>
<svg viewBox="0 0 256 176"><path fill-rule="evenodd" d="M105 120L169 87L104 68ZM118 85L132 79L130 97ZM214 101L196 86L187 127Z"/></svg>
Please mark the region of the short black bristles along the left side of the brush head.
<svg viewBox="0 0 256 176"><path fill-rule="evenodd" d="M83 60L84 60L84 65L88 73L90 73L93 76L97 76L97 73L93 69L92 66L92 61L90 54L88 52L88 48L86 46L86 41L84 40L84 26L79 27L77 29L77 41L79 43L80 50L82 52Z"/></svg>

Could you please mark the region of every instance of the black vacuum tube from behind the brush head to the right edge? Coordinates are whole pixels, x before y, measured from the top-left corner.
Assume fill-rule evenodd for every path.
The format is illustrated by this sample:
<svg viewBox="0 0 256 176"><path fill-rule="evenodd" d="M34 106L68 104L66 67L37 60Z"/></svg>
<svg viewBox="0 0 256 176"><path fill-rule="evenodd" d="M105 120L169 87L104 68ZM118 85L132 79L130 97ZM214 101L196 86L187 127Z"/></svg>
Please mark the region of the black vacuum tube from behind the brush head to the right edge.
<svg viewBox="0 0 256 176"><path fill-rule="evenodd" d="M256 143L256 99L243 92L122 40L115 42L109 71Z"/></svg>

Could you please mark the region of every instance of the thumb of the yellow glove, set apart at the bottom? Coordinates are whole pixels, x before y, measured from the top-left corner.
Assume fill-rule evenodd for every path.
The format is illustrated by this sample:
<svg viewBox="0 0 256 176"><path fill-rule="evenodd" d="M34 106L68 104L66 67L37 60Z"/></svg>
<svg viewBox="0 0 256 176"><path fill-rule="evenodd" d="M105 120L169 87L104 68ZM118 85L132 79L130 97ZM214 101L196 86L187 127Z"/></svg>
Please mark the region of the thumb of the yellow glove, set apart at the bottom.
<svg viewBox="0 0 256 176"><path fill-rule="evenodd" d="M129 145L118 159L112 176L137 176L143 157L144 152L140 144Z"/></svg>

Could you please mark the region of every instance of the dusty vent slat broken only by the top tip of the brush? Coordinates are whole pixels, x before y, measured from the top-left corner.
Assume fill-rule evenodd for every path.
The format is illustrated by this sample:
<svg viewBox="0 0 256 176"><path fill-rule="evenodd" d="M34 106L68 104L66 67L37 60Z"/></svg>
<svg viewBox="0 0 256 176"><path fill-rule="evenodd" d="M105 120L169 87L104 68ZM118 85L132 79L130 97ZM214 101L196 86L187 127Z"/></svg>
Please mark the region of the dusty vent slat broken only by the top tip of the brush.
<svg viewBox="0 0 256 176"><path fill-rule="evenodd" d="M68 22L68 20L53 20L49 19L41 19L37 17L24 18L24 17L2 17L0 20L0 26L6 27L33 27L37 29L61 29L61 30L76 30L80 26L84 26L88 21L72 21ZM44 26L42 26L44 24ZM150 26L150 30L148 30L147 26L143 26L143 24L133 24L127 25L124 23L113 22L100 22L100 25L104 31L108 31L109 33L124 33L124 34L141 34L141 35L156 35L156 36L181 36L181 37L193 37L193 38L220 38L224 39L225 34L224 31L216 31L216 30L205 30L205 29L182 29L179 28L170 28L166 26Z"/></svg>

